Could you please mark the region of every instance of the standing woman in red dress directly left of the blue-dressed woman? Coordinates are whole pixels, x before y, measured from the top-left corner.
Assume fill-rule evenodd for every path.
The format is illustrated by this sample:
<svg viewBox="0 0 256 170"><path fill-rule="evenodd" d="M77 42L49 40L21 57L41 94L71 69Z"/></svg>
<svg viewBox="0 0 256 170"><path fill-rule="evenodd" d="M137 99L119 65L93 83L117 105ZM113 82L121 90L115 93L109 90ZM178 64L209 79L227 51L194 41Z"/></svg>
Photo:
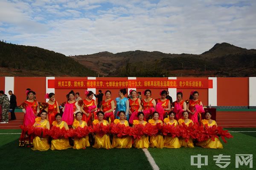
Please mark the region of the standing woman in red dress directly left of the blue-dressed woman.
<svg viewBox="0 0 256 170"><path fill-rule="evenodd" d="M111 91L105 92L106 99L102 101L101 111L104 112L104 120L108 120L109 123L114 121L114 109L115 102L111 99Z"/></svg>

